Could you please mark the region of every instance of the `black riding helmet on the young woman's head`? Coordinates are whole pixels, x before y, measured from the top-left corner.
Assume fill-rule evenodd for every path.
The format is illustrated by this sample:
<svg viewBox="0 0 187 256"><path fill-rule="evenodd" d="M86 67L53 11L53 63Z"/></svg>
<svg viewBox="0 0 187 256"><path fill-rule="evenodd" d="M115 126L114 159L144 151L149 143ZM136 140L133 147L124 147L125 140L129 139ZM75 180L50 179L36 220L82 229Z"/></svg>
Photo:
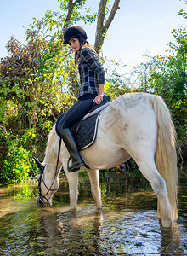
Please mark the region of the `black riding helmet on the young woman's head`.
<svg viewBox="0 0 187 256"><path fill-rule="evenodd" d="M80 36L85 40L88 38L87 33L81 26L70 26L65 30L63 44L68 44L71 38L78 38Z"/></svg>

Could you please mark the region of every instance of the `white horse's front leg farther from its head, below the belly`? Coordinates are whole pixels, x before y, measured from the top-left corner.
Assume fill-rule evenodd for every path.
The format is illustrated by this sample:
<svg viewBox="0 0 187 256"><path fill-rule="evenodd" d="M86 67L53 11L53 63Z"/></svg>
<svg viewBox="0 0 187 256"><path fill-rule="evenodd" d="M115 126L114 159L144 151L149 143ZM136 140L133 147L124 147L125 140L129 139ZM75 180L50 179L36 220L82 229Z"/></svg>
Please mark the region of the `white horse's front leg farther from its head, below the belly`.
<svg viewBox="0 0 187 256"><path fill-rule="evenodd" d="M101 202L101 193L99 187L99 170L90 170L88 169L89 180L91 183L91 190L94 200L96 201L96 206L98 209L101 209L102 202Z"/></svg>

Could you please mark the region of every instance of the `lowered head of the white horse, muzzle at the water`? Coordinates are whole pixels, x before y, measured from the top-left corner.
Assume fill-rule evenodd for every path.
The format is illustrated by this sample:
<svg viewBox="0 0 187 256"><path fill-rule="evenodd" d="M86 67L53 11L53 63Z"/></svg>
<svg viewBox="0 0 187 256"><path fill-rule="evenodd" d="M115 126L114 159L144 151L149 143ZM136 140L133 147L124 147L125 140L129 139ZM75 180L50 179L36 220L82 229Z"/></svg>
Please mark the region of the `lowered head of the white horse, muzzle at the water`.
<svg viewBox="0 0 187 256"><path fill-rule="evenodd" d="M40 169L40 173L37 175L37 203L48 203L51 205L54 193L59 189L59 180L57 179L56 172L54 177L51 177L49 174L50 172L47 170L48 165L43 166L36 158L34 158L34 160L37 164L37 167Z"/></svg>

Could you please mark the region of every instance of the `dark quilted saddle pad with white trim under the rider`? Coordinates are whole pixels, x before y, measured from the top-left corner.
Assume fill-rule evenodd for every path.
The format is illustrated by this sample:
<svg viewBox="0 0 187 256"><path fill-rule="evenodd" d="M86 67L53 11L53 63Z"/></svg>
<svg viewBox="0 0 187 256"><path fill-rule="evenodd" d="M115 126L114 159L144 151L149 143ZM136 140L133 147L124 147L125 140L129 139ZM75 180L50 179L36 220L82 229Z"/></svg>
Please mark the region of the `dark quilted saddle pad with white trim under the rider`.
<svg viewBox="0 0 187 256"><path fill-rule="evenodd" d="M81 120L71 126L71 133L77 143L77 149L79 151L93 145L97 136L100 113L108 107L110 102L111 96L104 96L103 102L100 104L93 103L93 106L88 113ZM59 116L56 124L58 124L63 115L64 113ZM55 129L56 133L60 137L57 125L55 126Z"/></svg>

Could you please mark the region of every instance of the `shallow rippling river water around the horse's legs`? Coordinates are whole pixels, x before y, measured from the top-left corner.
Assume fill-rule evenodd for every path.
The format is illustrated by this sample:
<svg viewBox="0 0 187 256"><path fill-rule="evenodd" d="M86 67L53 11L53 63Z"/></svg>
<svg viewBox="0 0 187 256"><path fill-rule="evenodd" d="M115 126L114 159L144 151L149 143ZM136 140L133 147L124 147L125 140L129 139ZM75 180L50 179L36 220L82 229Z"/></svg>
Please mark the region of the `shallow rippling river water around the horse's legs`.
<svg viewBox="0 0 187 256"><path fill-rule="evenodd" d="M52 207L36 203L37 182L0 187L0 255L187 255L187 186L178 186L178 221L156 218L156 195L144 177L100 172L102 211L80 173L76 212L65 180Z"/></svg>

